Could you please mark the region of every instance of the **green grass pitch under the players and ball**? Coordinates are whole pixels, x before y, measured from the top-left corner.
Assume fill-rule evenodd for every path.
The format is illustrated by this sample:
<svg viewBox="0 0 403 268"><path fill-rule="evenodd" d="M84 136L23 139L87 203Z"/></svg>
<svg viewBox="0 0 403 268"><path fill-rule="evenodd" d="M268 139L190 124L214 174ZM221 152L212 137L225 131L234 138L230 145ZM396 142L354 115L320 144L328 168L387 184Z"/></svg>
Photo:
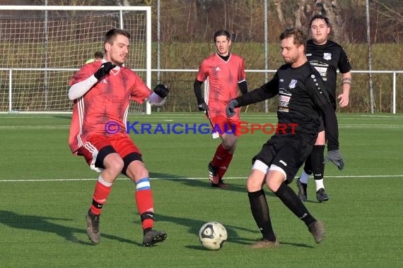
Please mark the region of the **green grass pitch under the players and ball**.
<svg viewBox="0 0 403 268"><path fill-rule="evenodd" d="M206 169L218 140L200 133L132 134L151 173L156 226L168 238L142 248L134 185L124 176L101 216L102 238L92 245L84 215L98 174L67 143L70 115L1 114L0 267L400 267L403 263L403 115L339 114L346 168L325 167L330 200L318 203L308 187L310 212L325 222L315 244L302 221L266 190L278 249L252 250L260 237L245 178L250 159L269 138L261 131L238 140L226 173L229 190L211 188ZM250 123L276 123L275 114L243 114ZM129 116L161 126L208 123L194 114ZM300 173L300 172L299 172ZM299 174L298 173L298 174ZM291 184L296 190L295 183ZM197 238L206 221L228 231L221 250Z"/></svg>

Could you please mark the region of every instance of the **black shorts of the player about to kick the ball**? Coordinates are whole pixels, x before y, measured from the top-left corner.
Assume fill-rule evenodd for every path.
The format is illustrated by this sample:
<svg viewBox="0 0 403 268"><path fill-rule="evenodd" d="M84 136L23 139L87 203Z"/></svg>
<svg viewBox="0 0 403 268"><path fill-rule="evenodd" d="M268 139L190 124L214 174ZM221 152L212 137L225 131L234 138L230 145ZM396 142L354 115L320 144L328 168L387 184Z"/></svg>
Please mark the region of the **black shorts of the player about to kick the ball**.
<svg viewBox="0 0 403 268"><path fill-rule="evenodd" d="M298 169L312 152L317 135L272 136L262 150L252 159L252 164L260 160L267 166L279 166L286 172L286 183L291 183Z"/></svg>

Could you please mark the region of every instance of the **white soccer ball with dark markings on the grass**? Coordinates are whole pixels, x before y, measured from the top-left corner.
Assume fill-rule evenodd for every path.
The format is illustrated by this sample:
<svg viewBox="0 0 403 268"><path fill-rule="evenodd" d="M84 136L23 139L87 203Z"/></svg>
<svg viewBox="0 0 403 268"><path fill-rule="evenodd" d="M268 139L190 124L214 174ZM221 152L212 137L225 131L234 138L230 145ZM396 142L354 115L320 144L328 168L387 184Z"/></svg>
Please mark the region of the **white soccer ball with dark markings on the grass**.
<svg viewBox="0 0 403 268"><path fill-rule="evenodd" d="M209 250L219 250L227 240L227 230L216 221L209 221L199 230L199 240Z"/></svg>

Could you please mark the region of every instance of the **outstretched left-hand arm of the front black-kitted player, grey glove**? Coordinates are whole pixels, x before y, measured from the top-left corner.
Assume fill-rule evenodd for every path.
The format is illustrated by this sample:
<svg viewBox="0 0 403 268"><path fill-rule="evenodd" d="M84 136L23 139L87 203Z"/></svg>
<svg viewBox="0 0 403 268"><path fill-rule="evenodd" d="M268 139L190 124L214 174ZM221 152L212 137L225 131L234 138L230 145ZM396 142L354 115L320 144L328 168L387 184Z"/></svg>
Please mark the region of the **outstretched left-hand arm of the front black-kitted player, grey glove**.
<svg viewBox="0 0 403 268"><path fill-rule="evenodd" d="M227 116L233 116L235 114L235 108L247 106L256 102L262 102L264 99L269 99L277 94L279 94L279 80L277 79L277 76L274 75L273 79L261 87L258 87L243 96L231 99L226 108Z"/></svg>

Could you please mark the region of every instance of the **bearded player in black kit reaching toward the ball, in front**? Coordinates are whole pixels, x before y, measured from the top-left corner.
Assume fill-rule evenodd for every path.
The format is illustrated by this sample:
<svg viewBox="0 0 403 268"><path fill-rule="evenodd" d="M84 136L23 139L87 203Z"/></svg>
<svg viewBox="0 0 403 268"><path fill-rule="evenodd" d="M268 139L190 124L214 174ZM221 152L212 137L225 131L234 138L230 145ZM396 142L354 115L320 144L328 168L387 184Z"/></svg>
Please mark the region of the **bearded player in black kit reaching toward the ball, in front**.
<svg viewBox="0 0 403 268"><path fill-rule="evenodd" d="M279 246L271 226L264 184L308 226L315 242L320 243L325 236L324 224L308 212L288 183L293 181L315 144L320 114L327 131L329 150L339 151L336 114L320 74L306 59L305 32L298 28L288 28L281 33L280 40L281 56L286 64L277 70L268 83L232 99L226 109L227 115L232 116L235 107L262 102L279 95L277 118L279 124L287 126L277 129L276 134L252 159L252 171L246 186L252 216L262 233L262 239L250 245L251 248Z"/></svg>

